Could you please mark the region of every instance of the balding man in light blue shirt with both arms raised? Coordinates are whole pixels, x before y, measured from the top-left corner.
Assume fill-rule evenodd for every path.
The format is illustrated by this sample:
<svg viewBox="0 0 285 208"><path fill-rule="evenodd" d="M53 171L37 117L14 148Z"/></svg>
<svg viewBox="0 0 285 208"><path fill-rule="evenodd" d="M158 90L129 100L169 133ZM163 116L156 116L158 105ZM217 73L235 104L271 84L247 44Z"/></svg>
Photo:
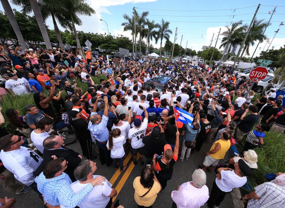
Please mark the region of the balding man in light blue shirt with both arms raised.
<svg viewBox="0 0 285 208"><path fill-rule="evenodd" d="M90 114L90 121L88 124L88 129L91 133L92 142L96 142L96 145L99 148L99 158L101 164L108 166L111 165L111 150L107 149L107 141L109 138L109 131L107 128L108 123L108 98L104 96L104 112L102 117L96 113L98 101L101 99L101 96L97 97L96 102L93 106L92 113Z"/></svg>

